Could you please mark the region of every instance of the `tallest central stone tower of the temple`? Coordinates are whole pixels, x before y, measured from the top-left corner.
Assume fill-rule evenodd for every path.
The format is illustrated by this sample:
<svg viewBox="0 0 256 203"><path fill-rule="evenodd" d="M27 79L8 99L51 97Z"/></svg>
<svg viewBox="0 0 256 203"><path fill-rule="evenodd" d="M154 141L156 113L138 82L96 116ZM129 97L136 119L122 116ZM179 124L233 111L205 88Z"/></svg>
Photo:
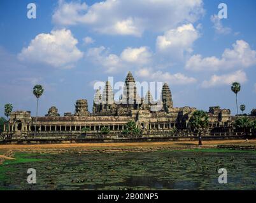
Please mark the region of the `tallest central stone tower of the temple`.
<svg viewBox="0 0 256 203"><path fill-rule="evenodd" d="M140 98L137 95L136 83L130 71L128 72L124 82L125 84L122 103L132 105L140 103Z"/></svg>

